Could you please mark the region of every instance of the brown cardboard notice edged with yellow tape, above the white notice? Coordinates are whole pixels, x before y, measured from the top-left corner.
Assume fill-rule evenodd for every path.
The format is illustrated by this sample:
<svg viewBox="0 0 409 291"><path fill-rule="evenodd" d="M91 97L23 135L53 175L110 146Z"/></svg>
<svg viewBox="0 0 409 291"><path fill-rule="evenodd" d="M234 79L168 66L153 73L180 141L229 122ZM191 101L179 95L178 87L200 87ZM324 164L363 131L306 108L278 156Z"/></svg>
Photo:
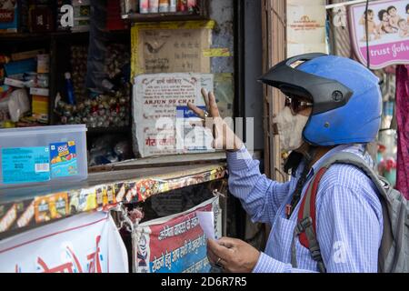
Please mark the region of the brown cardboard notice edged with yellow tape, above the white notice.
<svg viewBox="0 0 409 291"><path fill-rule="evenodd" d="M131 30L132 76L210 73L213 21L135 24Z"/></svg>

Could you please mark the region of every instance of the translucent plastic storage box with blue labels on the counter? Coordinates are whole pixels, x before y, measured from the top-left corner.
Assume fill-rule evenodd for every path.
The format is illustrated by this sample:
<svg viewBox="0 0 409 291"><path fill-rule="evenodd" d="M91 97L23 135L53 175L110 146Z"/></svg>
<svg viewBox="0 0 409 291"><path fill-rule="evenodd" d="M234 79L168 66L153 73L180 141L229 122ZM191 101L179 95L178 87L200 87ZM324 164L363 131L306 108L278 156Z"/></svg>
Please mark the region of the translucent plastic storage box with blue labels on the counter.
<svg viewBox="0 0 409 291"><path fill-rule="evenodd" d="M82 181L85 125L0 129L0 189Z"/></svg>

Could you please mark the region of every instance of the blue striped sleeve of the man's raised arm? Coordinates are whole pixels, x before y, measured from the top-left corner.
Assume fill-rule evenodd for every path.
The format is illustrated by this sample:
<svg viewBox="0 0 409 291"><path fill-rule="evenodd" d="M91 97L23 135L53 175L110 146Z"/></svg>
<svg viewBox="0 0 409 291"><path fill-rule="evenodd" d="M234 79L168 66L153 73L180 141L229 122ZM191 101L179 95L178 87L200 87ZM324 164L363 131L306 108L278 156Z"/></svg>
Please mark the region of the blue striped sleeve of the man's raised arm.
<svg viewBox="0 0 409 291"><path fill-rule="evenodd" d="M260 173L260 162L253 160L247 149L226 153L230 192L240 199L253 222L271 224L285 197L289 183L278 183Z"/></svg>

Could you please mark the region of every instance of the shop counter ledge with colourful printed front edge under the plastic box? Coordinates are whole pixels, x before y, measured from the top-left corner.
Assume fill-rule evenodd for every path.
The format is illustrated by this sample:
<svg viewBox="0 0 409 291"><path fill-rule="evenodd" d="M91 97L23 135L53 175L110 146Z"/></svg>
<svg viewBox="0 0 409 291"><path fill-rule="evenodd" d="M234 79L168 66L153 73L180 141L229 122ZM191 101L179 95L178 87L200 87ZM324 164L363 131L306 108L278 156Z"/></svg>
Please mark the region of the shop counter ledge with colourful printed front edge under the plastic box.
<svg viewBox="0 0 409 291"><path fill-rule="evenodd" d="M109 210L119 203L143 202L186 186L224 181L225 172L225 163L125 169L91 173L83 182L0 190L0 238L68 216ZM40 220L44 211L48 211L46 221Z"/></svg>

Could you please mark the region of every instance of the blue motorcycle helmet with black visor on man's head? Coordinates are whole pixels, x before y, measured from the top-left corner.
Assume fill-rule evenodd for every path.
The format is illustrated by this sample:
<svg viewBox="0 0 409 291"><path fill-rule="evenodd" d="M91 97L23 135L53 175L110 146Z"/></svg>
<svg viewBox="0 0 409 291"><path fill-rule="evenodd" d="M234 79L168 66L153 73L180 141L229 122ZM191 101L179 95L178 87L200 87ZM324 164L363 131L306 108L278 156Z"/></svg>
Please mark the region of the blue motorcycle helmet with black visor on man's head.
<svg viewBox="0 0 409 291"><path fill-rule="evenodd" d="M295 64L302 63L295 66ZM349 58L306 54L291 57L260 80L284 95L311 100L313 112L304 127L304 141L313 146L366 144L381 125L379 79Z"/></svg>

